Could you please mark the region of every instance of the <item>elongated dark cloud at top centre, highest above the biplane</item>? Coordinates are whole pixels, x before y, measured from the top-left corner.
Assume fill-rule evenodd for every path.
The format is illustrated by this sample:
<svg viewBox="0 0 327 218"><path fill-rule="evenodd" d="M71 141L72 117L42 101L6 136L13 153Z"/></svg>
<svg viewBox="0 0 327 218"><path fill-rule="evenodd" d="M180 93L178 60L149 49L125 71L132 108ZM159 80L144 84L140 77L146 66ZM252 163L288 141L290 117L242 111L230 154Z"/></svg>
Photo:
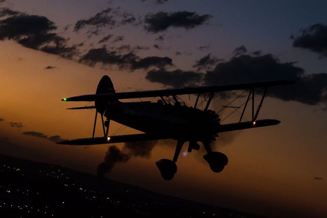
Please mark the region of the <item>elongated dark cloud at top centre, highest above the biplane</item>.
<svg viewBox="0 0 327 218"><path fill-rule="evenodd" d="M178 12L158 12L156 14L147 14L145 17L145 29L148 32L161 32L169 27L182 27L192 29L203 25L212 15L199 15L196 12L178 11Z"/></svg>

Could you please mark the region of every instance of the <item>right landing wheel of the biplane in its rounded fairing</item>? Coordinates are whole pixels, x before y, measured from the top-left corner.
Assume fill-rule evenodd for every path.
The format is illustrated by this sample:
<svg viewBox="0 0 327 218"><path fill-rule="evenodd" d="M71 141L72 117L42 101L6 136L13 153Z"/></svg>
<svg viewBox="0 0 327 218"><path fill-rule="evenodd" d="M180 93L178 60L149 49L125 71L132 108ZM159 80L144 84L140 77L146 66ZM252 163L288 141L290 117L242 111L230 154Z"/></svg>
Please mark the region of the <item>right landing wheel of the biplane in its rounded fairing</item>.
<svg viewBox="0 0 327 218"><path fill-rule="evenodd" d="M214 172L221 172L228 163L227 156L217 151L206 154L203 158Z"/></svg>

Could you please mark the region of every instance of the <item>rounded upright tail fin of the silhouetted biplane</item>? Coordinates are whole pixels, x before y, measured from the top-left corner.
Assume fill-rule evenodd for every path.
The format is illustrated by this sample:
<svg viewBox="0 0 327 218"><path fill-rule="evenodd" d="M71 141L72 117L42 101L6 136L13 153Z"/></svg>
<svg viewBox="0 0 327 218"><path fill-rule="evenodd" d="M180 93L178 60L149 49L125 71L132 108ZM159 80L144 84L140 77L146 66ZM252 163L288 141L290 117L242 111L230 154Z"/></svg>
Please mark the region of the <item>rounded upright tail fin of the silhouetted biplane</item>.
<svg viewBox="0 0 327 218"><path fill-rule="evenodd" d="M106 93L115 93L113 84L109 76L104 75L99 84L98 88L96 91L96 94L106 94ZM96 109L99 113L103 114L108 107L108 102L107 101L95 101Z"/></svg>

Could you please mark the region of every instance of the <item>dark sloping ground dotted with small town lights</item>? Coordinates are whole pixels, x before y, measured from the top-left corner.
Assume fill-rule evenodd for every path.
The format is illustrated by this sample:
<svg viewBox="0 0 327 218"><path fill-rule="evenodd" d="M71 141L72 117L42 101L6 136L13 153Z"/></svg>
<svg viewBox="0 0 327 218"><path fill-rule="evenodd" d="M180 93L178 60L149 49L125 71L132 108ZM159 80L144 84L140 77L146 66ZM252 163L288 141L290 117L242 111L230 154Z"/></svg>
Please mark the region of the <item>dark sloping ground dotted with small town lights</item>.
<svg viewBox="0 0 327 218"><path fill-rule="evenodd" d="M0 217L261 217L0 155Z"/></svg>

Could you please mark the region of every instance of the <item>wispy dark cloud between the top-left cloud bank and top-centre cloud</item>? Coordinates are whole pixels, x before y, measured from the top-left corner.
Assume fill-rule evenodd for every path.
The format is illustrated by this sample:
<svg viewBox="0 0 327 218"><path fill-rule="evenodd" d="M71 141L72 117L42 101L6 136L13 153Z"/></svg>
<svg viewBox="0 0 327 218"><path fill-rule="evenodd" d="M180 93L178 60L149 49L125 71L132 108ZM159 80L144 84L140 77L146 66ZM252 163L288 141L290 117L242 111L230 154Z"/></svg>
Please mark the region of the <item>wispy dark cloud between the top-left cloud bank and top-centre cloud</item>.
<svg viewBox="0 0 327 218"><path fill-rule="evenodd" d="M97 28L99 27L113 28L116 24L116 21L113 19L112 15L109 15L111 10L112 8L107 8L97 13L93 17L90 17L88 19L78 20L77 23L75 24L74 31L77 32L80 29L84 28L86 25L95 26Z"/></svg>

